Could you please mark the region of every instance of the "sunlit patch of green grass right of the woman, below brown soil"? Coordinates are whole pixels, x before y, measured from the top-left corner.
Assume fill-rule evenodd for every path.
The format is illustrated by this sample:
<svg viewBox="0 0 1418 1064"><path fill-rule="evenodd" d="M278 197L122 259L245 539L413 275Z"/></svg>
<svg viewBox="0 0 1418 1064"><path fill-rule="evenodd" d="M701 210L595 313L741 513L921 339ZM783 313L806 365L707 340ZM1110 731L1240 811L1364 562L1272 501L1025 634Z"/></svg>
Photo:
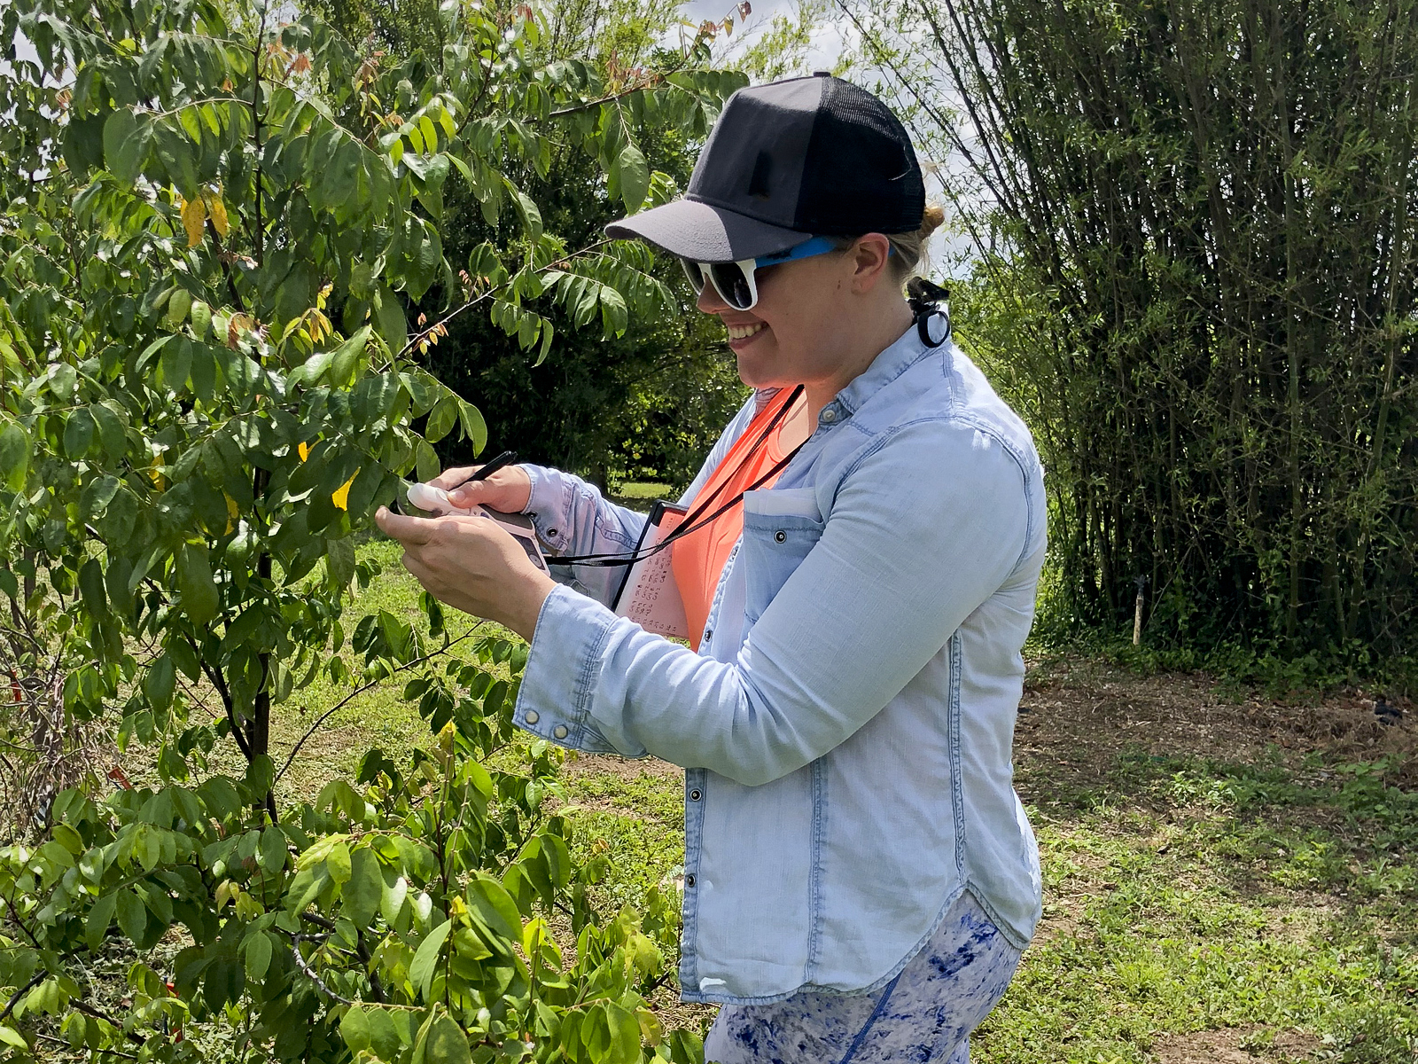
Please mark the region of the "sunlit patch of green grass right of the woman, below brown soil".
<svg viewBox="0 0 1418 1064"><path fill-rule="evenodd" d="M1418 796L1373 766L1107 767L1029 810L1045 925L978 1061L1149 1061L1222 1027L1256 1050L1300 1033L1307 1058L1415 1060Z"/></svg>

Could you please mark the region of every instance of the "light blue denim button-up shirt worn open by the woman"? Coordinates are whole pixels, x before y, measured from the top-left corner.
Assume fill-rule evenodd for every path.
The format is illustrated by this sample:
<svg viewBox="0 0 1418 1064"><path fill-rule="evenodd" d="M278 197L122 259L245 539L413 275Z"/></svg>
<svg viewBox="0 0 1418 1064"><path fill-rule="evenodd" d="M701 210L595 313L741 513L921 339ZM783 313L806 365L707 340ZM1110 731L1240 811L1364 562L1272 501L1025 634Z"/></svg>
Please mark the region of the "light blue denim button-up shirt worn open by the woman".
<svg viewBox="0 0 1418 1064"><path fill-rule="evenodd" d="M530 472L527 514L553 549L634 546L644 516ZM824 407L774 488L744 499L698 654L603 604L618 569L562 570L516 721L688 767L685 1000L878 989L961 891L1029 941L1039 865L1011 746L1042 477L980 370L912 328Z"/></svg>

